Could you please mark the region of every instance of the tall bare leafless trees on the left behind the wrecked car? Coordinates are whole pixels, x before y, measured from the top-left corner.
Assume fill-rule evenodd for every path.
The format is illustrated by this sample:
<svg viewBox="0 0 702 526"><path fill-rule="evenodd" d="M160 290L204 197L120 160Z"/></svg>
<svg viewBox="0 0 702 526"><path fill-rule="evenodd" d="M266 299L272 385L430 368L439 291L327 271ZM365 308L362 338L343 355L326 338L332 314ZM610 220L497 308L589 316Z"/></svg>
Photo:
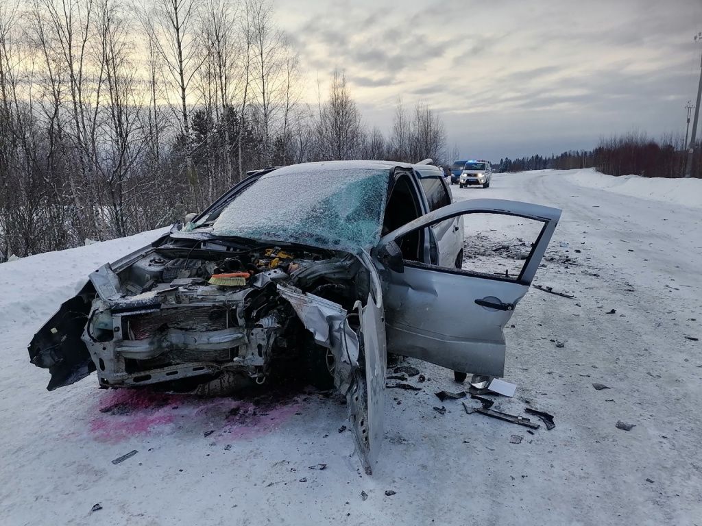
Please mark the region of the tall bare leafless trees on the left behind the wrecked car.
<svg viewBox="0 0 702 526"><path fill-rule="evenodd" d="M444 162L427 104L383 135L338 71L307 104L274 1L0 0L0 262L181 221L256 168Z"/></svg>

